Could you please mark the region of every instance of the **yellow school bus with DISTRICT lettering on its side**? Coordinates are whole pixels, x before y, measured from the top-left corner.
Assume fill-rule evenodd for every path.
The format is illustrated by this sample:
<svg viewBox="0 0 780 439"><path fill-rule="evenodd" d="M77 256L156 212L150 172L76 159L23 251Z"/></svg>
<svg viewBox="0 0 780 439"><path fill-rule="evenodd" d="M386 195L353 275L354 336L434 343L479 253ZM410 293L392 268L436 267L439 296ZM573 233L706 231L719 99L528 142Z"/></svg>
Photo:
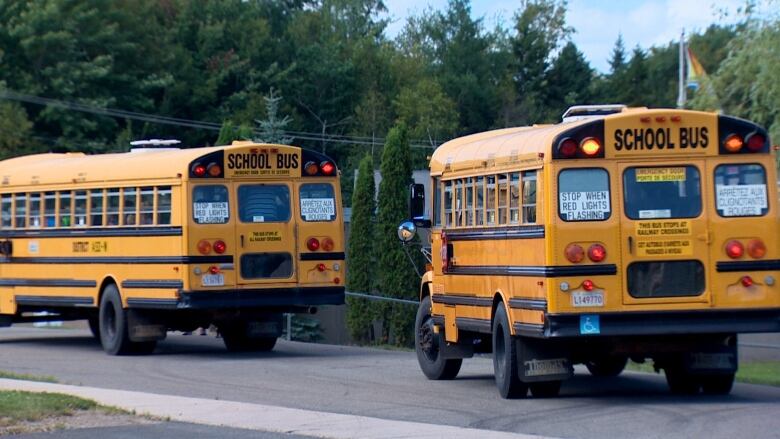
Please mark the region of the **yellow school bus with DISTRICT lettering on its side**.
<svg viewBox="0 0 780 439"><path fill-rule="evenodd" d="M216 325L270 350L282 314L344 303L338 170L234 142L0 162L0 326L87 319L109 354Z"/></svg>

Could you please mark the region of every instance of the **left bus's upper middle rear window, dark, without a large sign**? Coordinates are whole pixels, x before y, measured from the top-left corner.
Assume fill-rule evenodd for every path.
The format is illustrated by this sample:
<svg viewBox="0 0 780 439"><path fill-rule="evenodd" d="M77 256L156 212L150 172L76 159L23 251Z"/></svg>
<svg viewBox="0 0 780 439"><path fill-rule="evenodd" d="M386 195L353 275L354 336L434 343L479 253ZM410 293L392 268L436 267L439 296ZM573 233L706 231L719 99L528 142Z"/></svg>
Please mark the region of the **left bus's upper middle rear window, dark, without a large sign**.
<svg viewBox="0 0 780 439"><path fill-rule="evenodd" d="M239 186L238 217L244 223L288 221L290 190L275 184Z"/></svg>

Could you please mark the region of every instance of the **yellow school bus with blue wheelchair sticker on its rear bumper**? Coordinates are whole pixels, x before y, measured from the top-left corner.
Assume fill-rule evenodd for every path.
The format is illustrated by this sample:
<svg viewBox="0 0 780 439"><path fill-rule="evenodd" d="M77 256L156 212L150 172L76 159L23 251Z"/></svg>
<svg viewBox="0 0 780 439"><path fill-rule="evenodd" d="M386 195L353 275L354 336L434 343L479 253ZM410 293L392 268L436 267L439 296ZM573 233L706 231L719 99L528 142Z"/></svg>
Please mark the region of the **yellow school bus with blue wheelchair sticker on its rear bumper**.
<svg viewBox="0 0 780 439"><path fill-rule="evenodd" d="M431 227L415 340L430 379L492 352L505 398L557 395L585 364L653 361L673 392L729 393L736 334L780 331L775 157L715 113L578 106L562 123L479 133L412 188Z"/></svg>

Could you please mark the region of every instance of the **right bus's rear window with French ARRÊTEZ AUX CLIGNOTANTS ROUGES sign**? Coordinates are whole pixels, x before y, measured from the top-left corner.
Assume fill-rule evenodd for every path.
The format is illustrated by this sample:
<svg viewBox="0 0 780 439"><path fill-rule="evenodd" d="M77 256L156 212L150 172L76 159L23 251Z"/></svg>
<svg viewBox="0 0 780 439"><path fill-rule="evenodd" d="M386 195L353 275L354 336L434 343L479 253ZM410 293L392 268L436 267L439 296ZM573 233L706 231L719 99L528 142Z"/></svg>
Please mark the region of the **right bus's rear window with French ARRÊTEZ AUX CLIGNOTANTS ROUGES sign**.
<svg viewBox="0 0 780 439"><path fill-rule="evenodd" d="M715 209L723 217L763 216L769 212L766 171L758 164L715 168Z"/></svg>

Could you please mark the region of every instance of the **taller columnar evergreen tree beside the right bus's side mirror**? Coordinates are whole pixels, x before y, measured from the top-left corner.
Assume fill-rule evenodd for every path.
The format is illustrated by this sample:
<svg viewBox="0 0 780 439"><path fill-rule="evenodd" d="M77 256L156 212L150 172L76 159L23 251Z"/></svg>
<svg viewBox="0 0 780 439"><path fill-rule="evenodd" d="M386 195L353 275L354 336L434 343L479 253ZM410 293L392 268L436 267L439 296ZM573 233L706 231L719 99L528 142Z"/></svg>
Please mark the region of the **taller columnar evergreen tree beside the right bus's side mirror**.
<svg viewBox="0 0 780 439"><path fill-rule="evenodd" d="M409 139L406 125L393 127L387 134L382 153L382 182L379 184L379 212L377 215L378 266L377 289L383 296L416 299L420 280L414 267L398 242L396 230L408 219L408 186L412 169L409 164ZM405 304L386 304L383 307L385 328L399 346L409 345L414 339L414 310Z"/></svg>

